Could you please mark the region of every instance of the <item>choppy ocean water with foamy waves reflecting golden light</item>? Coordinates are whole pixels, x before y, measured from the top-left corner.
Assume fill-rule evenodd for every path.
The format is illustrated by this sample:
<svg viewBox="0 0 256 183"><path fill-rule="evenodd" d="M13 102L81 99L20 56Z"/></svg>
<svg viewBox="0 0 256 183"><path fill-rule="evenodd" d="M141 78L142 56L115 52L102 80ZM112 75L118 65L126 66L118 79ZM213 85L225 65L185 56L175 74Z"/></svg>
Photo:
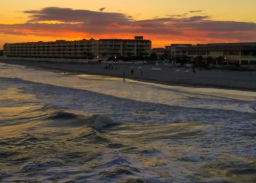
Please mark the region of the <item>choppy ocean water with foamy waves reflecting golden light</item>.
<svg viewBox="0 0 256 183"><path fill-rule="evenodd" d="M256 92L0 63L0 182L256 182Z"/></svg>

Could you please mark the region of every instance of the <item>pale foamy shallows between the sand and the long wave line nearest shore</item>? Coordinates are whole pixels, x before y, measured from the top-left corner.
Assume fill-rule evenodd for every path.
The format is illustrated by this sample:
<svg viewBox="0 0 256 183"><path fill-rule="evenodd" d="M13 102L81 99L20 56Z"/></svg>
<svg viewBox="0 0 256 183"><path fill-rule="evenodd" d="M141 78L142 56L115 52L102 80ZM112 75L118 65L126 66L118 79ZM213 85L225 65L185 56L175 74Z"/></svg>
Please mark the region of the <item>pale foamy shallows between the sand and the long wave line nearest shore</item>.
<svg viewBox="0 0 256 183"><path fill-rule="evenodd" d="M46 70L13 67L13 65L8 65L2 70L0 77L20 78L25 81L76 88L141 102L255 113L256 92L169 86L132 79L126 79L124 82L117 77L86 74L63 75Z"/></svg>

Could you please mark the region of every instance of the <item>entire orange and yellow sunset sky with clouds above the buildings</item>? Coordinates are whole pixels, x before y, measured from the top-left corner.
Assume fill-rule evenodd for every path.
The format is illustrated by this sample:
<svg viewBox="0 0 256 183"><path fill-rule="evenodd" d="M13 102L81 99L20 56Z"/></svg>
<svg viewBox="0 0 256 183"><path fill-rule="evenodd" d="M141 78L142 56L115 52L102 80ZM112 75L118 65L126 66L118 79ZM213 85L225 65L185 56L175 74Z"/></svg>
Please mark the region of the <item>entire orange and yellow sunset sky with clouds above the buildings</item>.
<svg viewBox="0 0 256 183"><path fill-rule="evenodd" d="M0 8L4 43L134 38L152 47L256 42L255 0L8 0Z"/></svg>

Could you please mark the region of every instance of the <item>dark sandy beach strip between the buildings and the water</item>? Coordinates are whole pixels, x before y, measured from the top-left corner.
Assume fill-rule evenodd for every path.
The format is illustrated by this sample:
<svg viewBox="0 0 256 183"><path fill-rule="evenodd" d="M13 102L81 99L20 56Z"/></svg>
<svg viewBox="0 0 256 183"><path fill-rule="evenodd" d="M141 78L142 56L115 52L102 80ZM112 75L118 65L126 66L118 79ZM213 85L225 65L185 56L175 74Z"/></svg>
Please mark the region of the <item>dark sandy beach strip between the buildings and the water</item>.
<svg viewBox="0 0 256 183"><path fill-rule="evenodd" d="M90 65L86 63L54 63L46 61L0 60L2 63L24 65L57 72L98 74L123 77L178 86L204 88L225 88L232 90L256 91L256 72L235 70L199 70L191 68L173 68L156 65L115 64L108 69L107 64ZM112 68L113 67L113 68ZM133 70L133 74L131 73Z"/></svg>

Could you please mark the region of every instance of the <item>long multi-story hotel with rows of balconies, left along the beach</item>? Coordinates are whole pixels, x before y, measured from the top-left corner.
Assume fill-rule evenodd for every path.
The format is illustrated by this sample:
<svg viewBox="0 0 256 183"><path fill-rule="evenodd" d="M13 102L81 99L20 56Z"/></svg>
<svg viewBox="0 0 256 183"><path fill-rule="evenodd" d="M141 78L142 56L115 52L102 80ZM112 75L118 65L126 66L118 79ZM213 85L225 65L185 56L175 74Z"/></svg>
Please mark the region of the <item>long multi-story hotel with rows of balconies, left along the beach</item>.
<svg viewBox="0 0 256 183"><path fill-rule="evenodd" d="M4 56L24 58L95 58L102 56L148 56L151 41L143 36L134 39L100 39L4 44Z"/></svg>

